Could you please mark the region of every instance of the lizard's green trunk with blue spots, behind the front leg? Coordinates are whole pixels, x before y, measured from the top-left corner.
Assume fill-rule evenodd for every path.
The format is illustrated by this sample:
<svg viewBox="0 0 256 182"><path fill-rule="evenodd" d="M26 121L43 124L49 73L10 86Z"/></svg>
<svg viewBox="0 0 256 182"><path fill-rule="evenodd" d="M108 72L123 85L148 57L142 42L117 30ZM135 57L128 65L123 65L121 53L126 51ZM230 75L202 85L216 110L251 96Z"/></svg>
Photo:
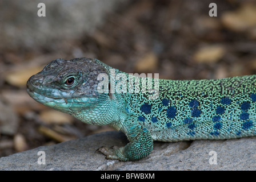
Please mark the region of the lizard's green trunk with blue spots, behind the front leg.
<svg viewBox="0 0 256 182"><path fill-rule="evenodd" d="M256 135L256 76L159 80L159 97L125 94L126 111L154 140L230 139Z"/></svg>

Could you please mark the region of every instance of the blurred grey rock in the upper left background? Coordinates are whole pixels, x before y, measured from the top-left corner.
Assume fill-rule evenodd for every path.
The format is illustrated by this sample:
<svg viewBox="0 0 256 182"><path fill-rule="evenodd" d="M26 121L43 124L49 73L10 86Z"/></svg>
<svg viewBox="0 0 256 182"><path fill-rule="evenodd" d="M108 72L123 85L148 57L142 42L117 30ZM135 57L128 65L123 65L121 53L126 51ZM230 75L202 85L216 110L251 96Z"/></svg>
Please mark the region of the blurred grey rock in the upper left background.
<svg viewBox="0 0 256 182"><path fill-rule="evenodd" d="M39 3L46 16L39 17ZM0 1L0 48L49 47L90 34L104 22L106 13L127 0L2 0Z"/></svg>

